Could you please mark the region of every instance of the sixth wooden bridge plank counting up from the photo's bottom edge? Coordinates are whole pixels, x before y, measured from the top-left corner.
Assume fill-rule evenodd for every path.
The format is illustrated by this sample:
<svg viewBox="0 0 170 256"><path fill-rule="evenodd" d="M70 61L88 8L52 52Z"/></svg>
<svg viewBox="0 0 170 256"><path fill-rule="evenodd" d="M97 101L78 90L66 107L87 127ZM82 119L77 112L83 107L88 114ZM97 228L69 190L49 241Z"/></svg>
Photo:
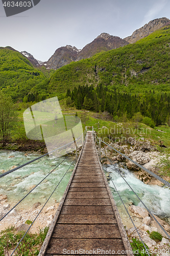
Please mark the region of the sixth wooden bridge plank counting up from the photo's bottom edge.
<svg viewBox="0 0 170 256"><path fill-rule="evenodd" d="M68 191L68 198L109 198L107 191Z"/></svg>

